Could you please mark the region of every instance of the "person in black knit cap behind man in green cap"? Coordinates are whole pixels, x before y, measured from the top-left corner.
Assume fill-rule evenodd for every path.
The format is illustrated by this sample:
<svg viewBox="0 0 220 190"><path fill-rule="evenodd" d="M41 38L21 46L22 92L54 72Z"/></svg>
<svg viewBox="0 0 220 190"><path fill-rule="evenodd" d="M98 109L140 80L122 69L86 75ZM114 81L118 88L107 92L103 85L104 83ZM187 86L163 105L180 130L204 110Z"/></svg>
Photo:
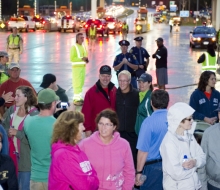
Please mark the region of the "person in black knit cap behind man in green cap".
<svg viewBox="0 0 220 190"><path fill-rule="evenodd" d="M42 88L50 88L55 91L56 95L59 96L61 102L69 102L66 91L56 84L56 76L53 74L45 74L43 81L40 85Z"/></svg>

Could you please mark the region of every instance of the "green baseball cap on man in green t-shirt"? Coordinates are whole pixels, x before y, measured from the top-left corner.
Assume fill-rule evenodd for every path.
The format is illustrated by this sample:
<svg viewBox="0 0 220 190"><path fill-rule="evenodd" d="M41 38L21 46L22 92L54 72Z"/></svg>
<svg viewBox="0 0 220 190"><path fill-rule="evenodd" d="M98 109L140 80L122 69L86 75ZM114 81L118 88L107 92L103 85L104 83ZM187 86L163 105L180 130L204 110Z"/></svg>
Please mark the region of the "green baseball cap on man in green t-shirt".
<svg viewBox="0 0 220 190"><path fill-rule="evenodd" d="M56 95L55 91L50 88L41 90L37 96L37 101L40 104L49 104L59 99L60 98Z"/></svg>

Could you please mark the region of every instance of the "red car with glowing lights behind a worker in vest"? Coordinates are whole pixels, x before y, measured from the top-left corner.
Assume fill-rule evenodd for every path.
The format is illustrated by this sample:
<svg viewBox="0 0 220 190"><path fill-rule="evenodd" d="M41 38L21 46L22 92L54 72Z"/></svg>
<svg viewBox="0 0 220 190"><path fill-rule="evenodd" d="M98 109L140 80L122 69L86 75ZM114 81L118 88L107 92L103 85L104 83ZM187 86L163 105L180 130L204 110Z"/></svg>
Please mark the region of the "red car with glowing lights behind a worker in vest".
<svg viewBox="0 0 220 190"><path fill-rule="evenodd" d="M85 24L85 32L87 37L88 37L88 30L92 23L94 23L96 27L97 34L101 34L102 36L104 36L105 34L107 36L109 35L107 23L104 19L89 19Z"/></svg>

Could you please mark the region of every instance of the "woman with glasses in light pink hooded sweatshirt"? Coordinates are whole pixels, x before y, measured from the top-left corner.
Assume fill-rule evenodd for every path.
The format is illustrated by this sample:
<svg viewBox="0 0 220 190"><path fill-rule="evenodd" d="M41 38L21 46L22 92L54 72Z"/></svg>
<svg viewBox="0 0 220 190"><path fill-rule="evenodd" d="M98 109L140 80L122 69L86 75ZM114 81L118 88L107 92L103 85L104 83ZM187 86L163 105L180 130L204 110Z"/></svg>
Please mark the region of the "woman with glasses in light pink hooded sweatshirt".
<svg viewBox="0 0 220 190"><path fill-rule="evenodd" d="M116 132L116 113L110 109L102 111L96 124L98 131L82 140L79 146L97 171L99 190L131 190L134 163L129 143Z"/></svg>

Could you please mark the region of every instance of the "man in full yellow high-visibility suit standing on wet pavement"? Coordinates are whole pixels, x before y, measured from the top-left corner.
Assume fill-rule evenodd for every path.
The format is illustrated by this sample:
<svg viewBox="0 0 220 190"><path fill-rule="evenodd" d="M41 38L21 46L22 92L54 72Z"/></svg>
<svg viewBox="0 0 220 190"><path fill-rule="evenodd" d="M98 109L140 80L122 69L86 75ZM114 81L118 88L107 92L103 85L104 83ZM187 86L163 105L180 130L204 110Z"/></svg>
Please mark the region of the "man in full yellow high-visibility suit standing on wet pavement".
<svg viewBox="0 0 220 190"><path fill-rule="evenodd" d="M82 33L76 35L76 44L71 47L70 61L72 62L73 80L73 103L77 106L83 104L82 91L86 75L86 63L89 62L88 54L83 45L84 37Z"/></svg>

